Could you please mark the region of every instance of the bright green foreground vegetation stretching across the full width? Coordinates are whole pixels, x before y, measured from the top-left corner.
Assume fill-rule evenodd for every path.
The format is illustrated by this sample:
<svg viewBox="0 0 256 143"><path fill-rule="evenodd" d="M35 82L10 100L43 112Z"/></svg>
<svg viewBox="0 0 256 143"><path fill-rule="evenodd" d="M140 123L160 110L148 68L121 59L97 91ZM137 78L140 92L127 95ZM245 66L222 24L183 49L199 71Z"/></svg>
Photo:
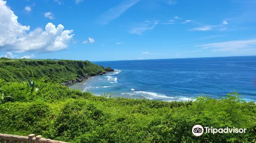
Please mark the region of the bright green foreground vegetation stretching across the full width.
<svg viewBox="0 0 256 143"><path fill-rule="evenodd" d="M11 73L12 68L4 69ZM29 70L29 66L26 68ZM36 67L31 68L37 71ZM93 96L52 82L59 81L56 79L9 81L12 80L0 80L0 133L34 133L71 142L256 141L256 105L242 101L237 93L222 99L200 97L195 102L161 102ZM196 137L191 132L196 124L247 130Z"/></svg>

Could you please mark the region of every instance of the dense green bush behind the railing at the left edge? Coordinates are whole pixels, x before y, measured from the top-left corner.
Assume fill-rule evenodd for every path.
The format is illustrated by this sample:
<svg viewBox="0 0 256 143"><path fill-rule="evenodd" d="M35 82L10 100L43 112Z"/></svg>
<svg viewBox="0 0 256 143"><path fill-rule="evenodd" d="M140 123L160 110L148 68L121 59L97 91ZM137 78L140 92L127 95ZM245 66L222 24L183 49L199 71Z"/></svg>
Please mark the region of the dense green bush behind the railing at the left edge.
<svg viewBox="0 0 256 143"><path fill-rule="evenodd" d="M52 113L46 103L5 103L0 105L0 132L28 135L49 130Z"/></svg>

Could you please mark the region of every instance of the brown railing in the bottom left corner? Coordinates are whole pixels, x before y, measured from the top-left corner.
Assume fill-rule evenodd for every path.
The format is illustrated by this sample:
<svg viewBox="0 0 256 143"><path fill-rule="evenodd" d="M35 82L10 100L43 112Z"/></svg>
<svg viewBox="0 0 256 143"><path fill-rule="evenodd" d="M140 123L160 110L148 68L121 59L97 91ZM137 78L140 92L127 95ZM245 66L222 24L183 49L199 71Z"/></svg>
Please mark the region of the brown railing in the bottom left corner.
<svg viewBox="0 0 256 143"><path fill-rule="evenodd" d="M29 136L0 134L0 140L1 143L67 143L64 141L42 138L40 135L35 136L34 134L30 134Z"/></svg>

